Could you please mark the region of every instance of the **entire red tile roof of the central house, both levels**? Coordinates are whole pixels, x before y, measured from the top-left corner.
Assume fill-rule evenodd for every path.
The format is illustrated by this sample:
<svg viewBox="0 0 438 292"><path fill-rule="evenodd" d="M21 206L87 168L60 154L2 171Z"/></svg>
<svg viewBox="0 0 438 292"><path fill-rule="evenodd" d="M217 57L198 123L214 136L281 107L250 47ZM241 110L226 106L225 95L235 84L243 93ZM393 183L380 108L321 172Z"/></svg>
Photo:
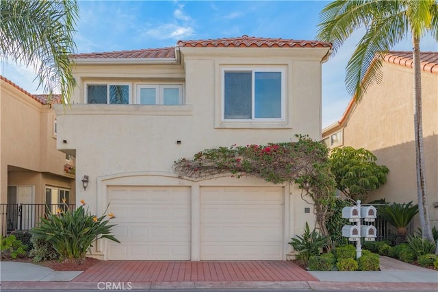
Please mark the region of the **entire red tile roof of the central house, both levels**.
<svg viewBox="0 0 438 292"><path fill-rule="evenodd" d="M326 47L331 42L317 40L290 40L283 38L256 38L240 36L237 38L217 38L211 40L179 40L177 47ZM103 53L76 53L70 55L74 59L129 59L129 58L175 58L175 47L161 49L138 49L133 51L110 51Z"/></svg>

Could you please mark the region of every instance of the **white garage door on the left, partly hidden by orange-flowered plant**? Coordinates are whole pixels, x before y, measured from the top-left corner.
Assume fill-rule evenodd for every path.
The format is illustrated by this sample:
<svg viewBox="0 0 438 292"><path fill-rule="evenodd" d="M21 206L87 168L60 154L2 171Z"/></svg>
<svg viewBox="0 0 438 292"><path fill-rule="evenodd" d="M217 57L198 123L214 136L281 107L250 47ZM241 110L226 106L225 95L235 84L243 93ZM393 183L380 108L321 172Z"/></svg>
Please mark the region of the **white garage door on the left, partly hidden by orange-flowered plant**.
<svg viewBox="0 0 438 292"><path fill-rule="evenodd" d="M110 260L190 260L190 188L112 186Z"/></svg>

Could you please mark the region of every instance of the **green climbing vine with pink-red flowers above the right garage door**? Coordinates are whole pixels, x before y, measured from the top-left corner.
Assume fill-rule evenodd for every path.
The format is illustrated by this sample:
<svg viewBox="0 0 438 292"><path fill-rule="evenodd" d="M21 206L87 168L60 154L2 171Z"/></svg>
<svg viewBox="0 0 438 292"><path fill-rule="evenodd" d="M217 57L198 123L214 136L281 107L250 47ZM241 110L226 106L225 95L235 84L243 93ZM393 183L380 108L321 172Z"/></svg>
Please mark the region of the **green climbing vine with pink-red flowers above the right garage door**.
<svg viewBox="0 0 438 292"><path fill-rule="evenodd" d="M326 220L335 204L336 184L330 171L328 149L308 136L297 137L297 142L204 149L192 159L175 161L173 168L188 178L231 173L235 178L247 175L273 184L296 184L302 190L302 199L313 204L320 232L329 235Z"/></svg>

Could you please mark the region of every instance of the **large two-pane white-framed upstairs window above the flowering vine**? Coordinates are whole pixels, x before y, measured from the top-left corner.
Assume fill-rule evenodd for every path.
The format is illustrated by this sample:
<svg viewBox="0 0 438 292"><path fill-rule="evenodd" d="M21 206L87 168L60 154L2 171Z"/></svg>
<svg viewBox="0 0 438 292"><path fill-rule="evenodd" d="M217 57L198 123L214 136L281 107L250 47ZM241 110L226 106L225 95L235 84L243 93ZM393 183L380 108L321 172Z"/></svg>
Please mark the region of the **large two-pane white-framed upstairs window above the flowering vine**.
<svg viewBox="0 0 438 292"><path fill-rule="evenodd" d="M222 120L282 121L283 69L223 69Z"/></svg>

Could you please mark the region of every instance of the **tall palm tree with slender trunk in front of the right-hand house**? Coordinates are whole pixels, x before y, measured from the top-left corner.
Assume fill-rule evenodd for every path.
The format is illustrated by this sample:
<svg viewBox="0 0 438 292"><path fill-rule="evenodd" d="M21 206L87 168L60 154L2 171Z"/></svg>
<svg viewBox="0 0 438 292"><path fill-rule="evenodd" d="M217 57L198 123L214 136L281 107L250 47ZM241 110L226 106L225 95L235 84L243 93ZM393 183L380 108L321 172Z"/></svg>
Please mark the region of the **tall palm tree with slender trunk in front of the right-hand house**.
<svg viewBox="0 0 438 292"><path fill-rule="evenodd" d="M346 87L356 101L377 79L385 53L412 35L417 199L423 238L433 241L424 171L420 38L430 32L438 40L437 0L336 0L320 12L319 26L317 38L333 42L335 52L355 30L366 28L346 67Z"/></svg>

